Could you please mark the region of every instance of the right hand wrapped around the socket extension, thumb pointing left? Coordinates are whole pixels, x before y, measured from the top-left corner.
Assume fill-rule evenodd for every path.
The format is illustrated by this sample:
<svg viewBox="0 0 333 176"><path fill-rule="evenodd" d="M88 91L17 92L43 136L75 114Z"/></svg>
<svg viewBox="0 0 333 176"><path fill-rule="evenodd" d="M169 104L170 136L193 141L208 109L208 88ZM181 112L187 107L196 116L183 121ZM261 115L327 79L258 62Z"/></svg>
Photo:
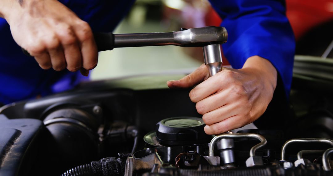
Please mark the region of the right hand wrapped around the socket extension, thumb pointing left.
<svg viewBox="0 0 333 176"><path fill-rule="evenodd" d="M207 134L220 134L245 126L258 119L272 100L277 72L259 56L248 58L242 69L222 68L209 77L203 64L178 81L168 81L170 88L189 88L196 110L202 114Z"/></svg>

